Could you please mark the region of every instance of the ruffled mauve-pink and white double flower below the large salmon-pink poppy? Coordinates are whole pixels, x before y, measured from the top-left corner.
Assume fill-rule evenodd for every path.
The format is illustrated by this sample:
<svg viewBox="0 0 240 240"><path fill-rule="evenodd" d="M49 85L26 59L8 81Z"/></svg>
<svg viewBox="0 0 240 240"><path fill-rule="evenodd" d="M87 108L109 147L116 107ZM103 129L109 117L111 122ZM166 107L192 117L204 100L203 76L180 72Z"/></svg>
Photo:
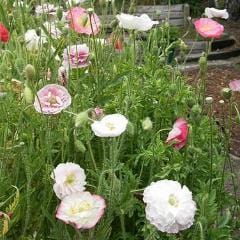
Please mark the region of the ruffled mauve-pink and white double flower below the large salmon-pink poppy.
<svg viewBox="0 0 240 240"><path fill-rule="evenodd" d="M63 66L84 68L89 65L89 48L86 44L71 45L63 51Z"/></svg>

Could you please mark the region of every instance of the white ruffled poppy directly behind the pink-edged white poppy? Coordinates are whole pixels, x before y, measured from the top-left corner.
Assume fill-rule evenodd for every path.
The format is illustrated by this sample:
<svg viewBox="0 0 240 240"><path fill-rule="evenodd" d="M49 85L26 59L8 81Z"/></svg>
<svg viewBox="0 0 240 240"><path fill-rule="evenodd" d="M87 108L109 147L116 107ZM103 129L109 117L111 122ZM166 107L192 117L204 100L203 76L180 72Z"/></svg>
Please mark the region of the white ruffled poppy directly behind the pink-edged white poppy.
<svg viewBox="0 0 240 240"><path fill-rule="evenodd" d="M84 170L75 163L61 163L51 174L55 184L53 190L59 199L63 199L72 193L85 190L86 175Z"/></svg>

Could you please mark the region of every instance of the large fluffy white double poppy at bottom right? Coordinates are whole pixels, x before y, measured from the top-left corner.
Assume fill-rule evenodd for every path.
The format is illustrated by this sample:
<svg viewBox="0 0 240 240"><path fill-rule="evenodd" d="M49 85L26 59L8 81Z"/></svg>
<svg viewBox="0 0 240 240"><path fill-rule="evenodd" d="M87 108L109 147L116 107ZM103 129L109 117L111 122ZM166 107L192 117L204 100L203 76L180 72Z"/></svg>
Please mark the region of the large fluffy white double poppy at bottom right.
<svg viewBox="0 0 240 240"><path fill-rule="evenodd" d="M171 180L152 182L145 188L146 218L161 232L178 233L192 226L196 203L186 186Z"/></svg>

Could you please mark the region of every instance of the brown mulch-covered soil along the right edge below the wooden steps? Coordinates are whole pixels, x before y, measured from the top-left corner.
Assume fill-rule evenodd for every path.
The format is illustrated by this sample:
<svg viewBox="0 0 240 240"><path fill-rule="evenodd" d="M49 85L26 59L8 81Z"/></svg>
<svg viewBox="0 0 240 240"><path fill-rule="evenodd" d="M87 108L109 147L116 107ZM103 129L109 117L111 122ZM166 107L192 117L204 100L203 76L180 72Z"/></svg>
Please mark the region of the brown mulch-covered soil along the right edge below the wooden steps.
<svg viewBox="0 0 240 240"><path fill-rule="evenodd" d="M194 70L185 74L190 84L195 85L199 82L198 71ZM208 69L206 97L213 97L214 117L223 131L228 125L230 103L226 100L224 104L219 103L219 101L223 99L221 90L225 87L229 87L229 82L234 79L240 79L240 66L224 68L214 67ZM240 109L240 92L234 92L231 101L236 103L238 109ZM237 120L236 110L234 108L232 108L231 122L230 152L240 157L240 122Z"/></svg>

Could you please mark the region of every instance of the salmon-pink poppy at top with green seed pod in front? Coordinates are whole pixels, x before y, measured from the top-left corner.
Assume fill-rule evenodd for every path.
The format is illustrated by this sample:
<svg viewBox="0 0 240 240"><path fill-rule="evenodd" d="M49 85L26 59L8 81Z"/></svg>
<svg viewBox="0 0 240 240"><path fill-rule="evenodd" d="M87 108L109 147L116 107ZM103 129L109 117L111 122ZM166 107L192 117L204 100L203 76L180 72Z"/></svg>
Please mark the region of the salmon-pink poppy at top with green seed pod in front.
<svg viewBox="0 0 240 240"><path fill-rule="evenodd" d="M91 14L91 18L86 9L74 7L68 12L68 20L70 26L78 33L87 35L96 35L100 31L100 19L95 14ZM91 26L92 25L92 26Z"/></svg>

